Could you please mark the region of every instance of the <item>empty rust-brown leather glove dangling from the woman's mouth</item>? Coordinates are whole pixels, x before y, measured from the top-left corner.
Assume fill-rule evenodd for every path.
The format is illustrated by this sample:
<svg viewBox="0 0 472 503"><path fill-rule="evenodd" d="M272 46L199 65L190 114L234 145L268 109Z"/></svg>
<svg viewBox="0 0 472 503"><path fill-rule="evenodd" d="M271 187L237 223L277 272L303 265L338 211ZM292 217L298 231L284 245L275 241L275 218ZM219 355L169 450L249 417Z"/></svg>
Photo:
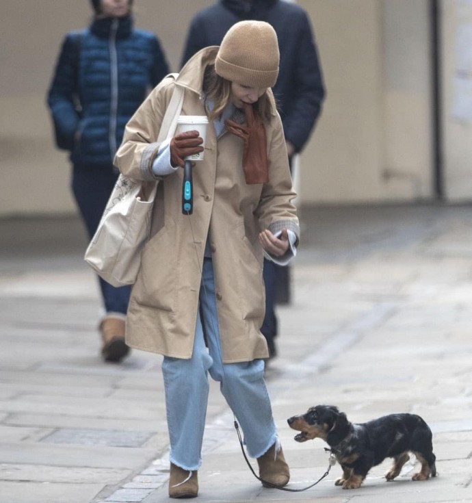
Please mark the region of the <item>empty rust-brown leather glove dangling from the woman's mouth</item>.
<svg viewBox="0 0 472 503"><path fill-rule="evenodd" d="M244 103L246 125L234 120L225 120L226 129L244 140L243 171L246 183L266 183L269 181L267 171L267 139L261 116L249 103Z"/></svg>

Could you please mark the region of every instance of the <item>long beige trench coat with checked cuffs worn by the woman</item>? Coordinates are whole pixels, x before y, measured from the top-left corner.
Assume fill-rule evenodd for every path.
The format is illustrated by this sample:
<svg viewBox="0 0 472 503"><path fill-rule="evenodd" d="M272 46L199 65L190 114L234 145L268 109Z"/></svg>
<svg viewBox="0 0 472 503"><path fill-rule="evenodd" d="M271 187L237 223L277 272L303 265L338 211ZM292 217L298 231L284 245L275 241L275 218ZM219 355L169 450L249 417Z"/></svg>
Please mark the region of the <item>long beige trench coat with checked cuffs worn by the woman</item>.
<svg viewBox="0 0 472 503"><path fill-rule="evenodd" d="M151 92L129 120L115 164L124 175L153 181L150 169L159 144L160 123L174 86L185 88L182 115L206 115L201 99L205 66L217 47L203 49L181 70ZM269 91L270 92L270 91ZM273 102L272 92L270 96ZM242 116L244 117L244 115ZM268 183L247 185L242 169L242 140L224 132L216 138L209 124L205 159L193 170L194 211L181 211L183 170L160 179L150 239L131 292L127 344L168 357L192 357L201 266L207 236L215 275L218 323L225 363L265 358L259 328L265 294L263 250L258 234L299 227L282 124L275 111L265 123Z"/></svg>

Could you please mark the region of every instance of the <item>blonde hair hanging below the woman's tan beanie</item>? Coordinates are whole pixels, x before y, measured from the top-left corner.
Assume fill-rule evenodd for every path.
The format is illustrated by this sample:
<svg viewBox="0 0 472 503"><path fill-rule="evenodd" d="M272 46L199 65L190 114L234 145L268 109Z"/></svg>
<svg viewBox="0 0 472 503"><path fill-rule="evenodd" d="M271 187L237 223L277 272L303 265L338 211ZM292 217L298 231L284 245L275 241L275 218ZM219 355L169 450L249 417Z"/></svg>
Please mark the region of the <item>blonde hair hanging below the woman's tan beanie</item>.
<svg viewBox="0 0 472 503"><path fill-rule="evenodd" d="M203 77L203 92L205 93L205 107L208 101L213 102L213 109L208 113L209 120L219 117L226 105L231 101L231 81L220 77L215 72L215 66L209 65ZM272 104L267 91L257 101L257 110L263 120L270 120ZM206 107L208 109L208 107Z"/></svg>

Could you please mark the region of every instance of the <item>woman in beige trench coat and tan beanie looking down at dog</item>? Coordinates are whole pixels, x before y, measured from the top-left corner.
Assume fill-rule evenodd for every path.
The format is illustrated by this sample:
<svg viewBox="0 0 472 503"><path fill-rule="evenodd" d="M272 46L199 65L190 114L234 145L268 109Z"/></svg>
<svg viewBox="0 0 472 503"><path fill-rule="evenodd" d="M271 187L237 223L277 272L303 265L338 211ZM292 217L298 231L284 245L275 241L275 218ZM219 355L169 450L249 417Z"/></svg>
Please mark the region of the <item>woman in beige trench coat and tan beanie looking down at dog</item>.
<svg viewBox="0 0 472 503"><path fill-rule="evenodd" d="M127 343L164 357L171 498L198 494L208 373L220 382L261 478L289 482L263 378L268 352L260 331L263 256L288 263L299 236L270 90L278 63L269 24L233 25L220 47L202 49L176 79L163 79L150 93L129 120L115 158L124 175L159 180L129 303ZM209 120L205 146L198 131L156 142L176 86L185 89L181 115ZM202 151L193 168L193 213L183 214L183 159Z"/></svg>

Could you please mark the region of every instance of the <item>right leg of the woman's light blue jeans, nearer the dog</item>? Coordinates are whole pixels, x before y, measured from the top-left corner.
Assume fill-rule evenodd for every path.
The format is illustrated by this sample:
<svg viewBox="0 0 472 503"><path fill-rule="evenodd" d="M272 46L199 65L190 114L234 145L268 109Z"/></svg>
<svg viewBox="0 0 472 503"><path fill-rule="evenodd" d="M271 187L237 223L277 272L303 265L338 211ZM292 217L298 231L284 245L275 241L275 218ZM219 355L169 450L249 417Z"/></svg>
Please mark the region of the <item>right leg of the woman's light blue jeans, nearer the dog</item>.
<svg viewBox="0 0 472 503"><path fill-rule="evenodd" d="M205 259L203 265L200 312L209 354L213 360L210 375L220 382L222 394L243 430L249 455L259 458L269 450L277 437L264 381L264 361L257 359L242 363L222 363L211 259Z"/></svg>

